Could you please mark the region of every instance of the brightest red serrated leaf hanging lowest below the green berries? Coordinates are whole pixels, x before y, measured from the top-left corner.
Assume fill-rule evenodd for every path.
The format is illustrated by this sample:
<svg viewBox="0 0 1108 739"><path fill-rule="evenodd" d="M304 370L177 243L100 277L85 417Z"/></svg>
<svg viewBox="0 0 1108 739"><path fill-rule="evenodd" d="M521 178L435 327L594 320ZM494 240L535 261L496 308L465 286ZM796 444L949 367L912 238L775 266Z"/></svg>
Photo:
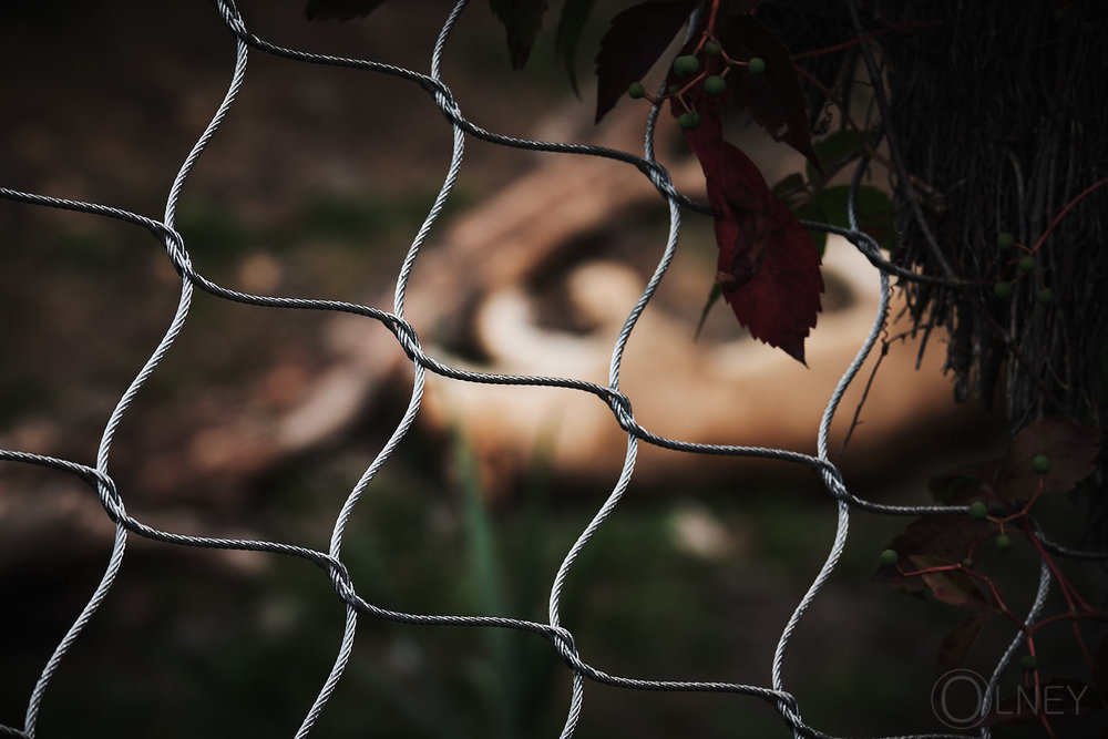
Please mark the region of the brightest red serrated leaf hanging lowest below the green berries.
<svg viewBox="0 0 1108 739"><path fill-rule="evenodd" d="M667 82L678 79L671 72ZM696 85L686 102L700 115L685 140L704 170L716 214L717 284L751 336L803 363L804 339L821 309L819 250L755 163L724 141L719 99ZM686 111L674 99L670 112Z"/></svg>

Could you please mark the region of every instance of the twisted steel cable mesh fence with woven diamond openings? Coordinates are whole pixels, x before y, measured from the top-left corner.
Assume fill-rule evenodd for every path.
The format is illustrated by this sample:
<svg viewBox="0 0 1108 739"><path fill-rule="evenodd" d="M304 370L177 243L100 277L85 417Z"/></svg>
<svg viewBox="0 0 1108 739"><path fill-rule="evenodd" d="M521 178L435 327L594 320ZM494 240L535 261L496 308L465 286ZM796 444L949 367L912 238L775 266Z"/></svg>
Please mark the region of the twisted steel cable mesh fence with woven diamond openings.
<svg viewBox="0 0 1108 739"><path fill-rule="evenodd" d="M53 654L42 669L42 673L30 695L27 707L27 715L21 728L11 726L0 726L0 733L9 736L34 737L39 719L43 710L48 710L49 688L58 670L64 664L66 655L71 651L82 632L93 620L98 609L105 598L109 597L113 583L120 575L124 563L126 544L131 536L141 536L154 542L172 546L201 547L229 551L253 551L274 556L297 557L306 560L317 565L320 576L329 578L338 604L336 607L345 609L345 626L340 645L335 655L330 674L318 689L315 700L308 708L297 737L308 736L317 720L324 712L328 700L339 685L345 670L347 669L352 655L355 634L360 617L379 618L401 624L417 626L449 626L464 627L470 629L513 629L534 635L535 639L544 639L550 643L550 649L556 653L568 674L572 676L572 689L567 698L565 709L564 726L562 737L574 735L578 719L581 717L583 701L585 700L586 687L589 682L598 682L616 688L628 690L646 691L700 691L700 692L722 692L735 694L747 697L751 700L763 701L770 705L780 716L783 726L789 727L796 736L825 737L819 727L811 726L804 719L803 706L793 697L790 691L790 680L786 667L787 655L790 654L790 644L798 625L804 615L813 606L818 605L819 593L831 577L835 569L848 542L849 524L851 515L855 511L864 511L882 515L894 516L917 516L925 513L965 513L967 506L901 506L874 503L855 495L845 484L843 476L831 459L829 449L829 434L831 422L840 411L840 403L847 388L855 381L856 376L878 345L881 331L889 318L890 300L890 277L901 277L913 280L916 284L941 285L945 289L957 289L964 284L953 276L947 279L936 279L922 277L912 270L896 266L888 261L879 250L878 244L869 235L860 230L855 217L855 194L862 181L862 176L869 165L869 157L863 156L858 163L851 185L849 198L850 225L847 228L832 226L830 224L806 222L809 228L820 229L828 233L839 234L845 237L865 258L873 265L873 279L880 283L880 305L873 316L872 327L866 337L862 339L854 360L843 368L842 377L833 394L828 399L824 412L815 435L818 438L818 451L814 455L804 454L787 449L771 449L760 447L740 445L718 445L702 444L680 439L670 439L659 435L647 428L640 425L634 414L634 398L628 397L620 390L620 372L623 369L624 350L629 341L639 316L647 308L659 284L665 277L675 254L679 247L681 211L689 208L696 212L708 212L706 206L690 199L686 195L677 192L673 186L669 174L655 158L655 123L659 114L659 105L655 105L648 115L644 138L643 153L633 154L625 151L604 148L593 145L531 141L509 135L499 134L494 131L481 127L463 113L463 102L454 96L452 90L443 82L443 53L447 49L451 32L455 23L465 9L466 2L461 0L454 7L449 18L442 25L441 33L431 54L430 74L421 74L410 69L394 66L391 64L353 59L330 57L326 54L309 53L288 49L266 39L255 35L247 24L246 19L239 13L235 3L230 0L216 0L218 18L230 31L235 44L235 64L232 73L232 81L226 90L226 94L211 117L211 121L195 145L185 158L166 196L165 211L160 218L144 216L132 213L123 208L111 205L66 199L53 195L44 195L30 192L21 192L8 187L0 187L0 197L28 206L40 206L48 208L59 208L73 211L90 217L107 218L122 222L137 229L147 232L150 236L163 244L166 258L172 264L174 270L179 276L179 294L177 297L176 311L165 328L164 335L156 348L138 371L130 387L119 399L114 411L107 423L104 425L99 443L94 464L83 464L70 459L61 459L37 453L29 453L20 450L0 450L0 461L14 464L29 464L47 468L59 474L73 475L85 483L91 491L94 491L104 514L115 525L115 536L111 557L103 576L94 593L89 598L83 610L73 622L68 633L58 644ZM213 18L213 22L217 22ZM441 113L452 129L452 154L442 181L441 188L434 199L433 205L427 213L422 225L411 240L410 248L403 260L402 267L396 280L394 299L391 308L372 307L352 301L328 300L316 298L298 298L287 296L257 295L225 287L209 277L201 274L194 266L189 256L189 244L182 236L176 227L177 207L182 193L189 176L202 160L202 154L208 143L216 135L225 119L233 114L236 97L239 95L244 84L247 83L247 58L250 51L284 58L293 62L320 65L324 68L347 68L369 74L383 74L400 79L407 83L422 89L429 99L428 113L433 109ZM326 73L320 70L320 73ZM433 104L433 109L431 107ZM666 238L663 254L657 263L653 276L643 287L640 297L634 305L627 306L627 317L623 329L612 347L611 365L606 384L589 382L577 378L544 377L544 376L507 376L475 372L468 369L453 367L440 358L427 352L420 341L419 326L413 325L406 317L404 306L409 285L413 278L416 266L421 250L427 243L429 235L440 222L444 207L458 183L459 174L463 166L464 150L466 141L476 138L495 145L526 150L542 151L565 156L591 156L605 157L619 163L620 166L634 167L649 181L658 192L659 198L664 199L669 213L668 236ZM393 429L390 438L383 444L380 452L371 464L363 471L361 478L350 490L345 502L335 512L334 526L331 531L329 546L326 551L299 546L281 541L255 541L246 538L227 538L214 536L197 536L164 531L140 521L127 512L125 501L127 492L116 485L110 473L110 462L113 459L113 441L121 424L125 423L129 409L135 399L143 392L151 377L155 374L158 366L171 351L174 342L181 335L189 316L195 291L199 289L223 300L259 306L267 309L302 310L302 311L330 311L343 312L361 317L367 321L376 321L390 331L399 347L411 362L412 384L406 411ZM557 573L550 584L548 613L545 622L525 620L503 616L465 616L465 615L435 615L430 613L406 613L393 610L375 605L368 602L358 592L358 583L351 577L347 565L343 563L343 544L348 523L361 499L372 491L375 479L381 469L393 456L397 449L404 442L420 412L423 391L428 373L434 373L456 382L490 383L502 386L516 386L519 391L527 392L529 388L544 387L557 388L565 392L585 393L595 397L596 402L603 403L612 412L612 422L626 432L626 454L618 479L613 484L611 493L603 505L596 511L592 521L579 532L576 541L565 553ZM582 553L589 546L591 540L611 516L618 515L617 509L622 497L632 482L636 469L636 456L640 444L654 444L665 449L684 452L688 454L708 454L727 456L749 456L776 460L781 463L800 465L817 475L823 483L828 494L828 504L834 506L837 512L837 530L833 543L827 552L824 563L818 574L813 577L807 593L797 604L791 617L782 625L777 647L771 665L771 680L769 685L750 685L722 680L676 680L676 679L640 679L613 675L592 664L588 655L578 651L573 632L563 623L563 597L567 583L574 576L575 564ZM1040 534L1039 534L1040 535ZM1059 553L1073 553L1065 547L1053 544L1045 536L1042 536L1045 545ZM1095 556L1095 555L1090 555ZM1049 591L1053 575L1044 564L1038 572L1038 584L1036 595L1024 617L1025 624L1034 624L1037 619ZM1020 635L1016 634L1008 648L999 656L995 671L988 682L987 690L995 691L1005 666L1010 661L1020 644ZM983 728L981 736L987 737L989 730ZM920 737L943 737L961 735L916 735Z"/></svg>

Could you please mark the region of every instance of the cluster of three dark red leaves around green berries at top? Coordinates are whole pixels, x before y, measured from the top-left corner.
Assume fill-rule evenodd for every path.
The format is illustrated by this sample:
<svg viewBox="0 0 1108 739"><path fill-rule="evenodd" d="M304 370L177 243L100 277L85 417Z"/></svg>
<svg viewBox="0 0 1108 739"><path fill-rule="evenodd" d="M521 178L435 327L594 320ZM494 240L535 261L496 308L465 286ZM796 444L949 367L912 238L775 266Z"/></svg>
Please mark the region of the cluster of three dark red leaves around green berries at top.
<svg viewBox="0 0 1108 739"><path fill-rule="evenodd" d="M596 117L599 120L654 65L688 18L695 2L650 0L616 16L596 59ZM675 117L696 113L699 125L685 130L689 151L700 162L708 202L716 214L719 246L717 285L736 318L750 333L804 361L804 339L815 326L823 279L820 255L811 235L770 192L758 167L724 138L725 100L749 110L778 141L784 141L819 166L807 126L807 109L789 51L758 23L741 3L705 13L681 54L697 54L704 75L725 74L726 59L760 55L763 75L731 66L727 94L709 95L701 83L670 71L667 86L684 89L670 99ZM708 27L708 23L715 23ZM724 54L702 53L705 35L714 37ZM755 79L759 78L759 79Z"/></svg>

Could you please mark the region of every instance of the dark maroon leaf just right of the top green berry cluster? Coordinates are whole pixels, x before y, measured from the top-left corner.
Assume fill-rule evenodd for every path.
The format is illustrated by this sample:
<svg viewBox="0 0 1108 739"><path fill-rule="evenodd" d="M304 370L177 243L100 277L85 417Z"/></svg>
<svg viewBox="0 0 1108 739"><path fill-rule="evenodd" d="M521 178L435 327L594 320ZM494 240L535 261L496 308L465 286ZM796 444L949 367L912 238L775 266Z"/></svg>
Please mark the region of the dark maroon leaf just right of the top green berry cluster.
<svg viewBox="0 0 1108 739"><path fill-rule="evenodd" d="M748 13L720 13L716 33L732 59L747 61L759 57L766 62L761 74L735 69L727 75L736 104L749 110L773 141L789 144L822 173L808 131L808 102L789 49Z"/></svg>

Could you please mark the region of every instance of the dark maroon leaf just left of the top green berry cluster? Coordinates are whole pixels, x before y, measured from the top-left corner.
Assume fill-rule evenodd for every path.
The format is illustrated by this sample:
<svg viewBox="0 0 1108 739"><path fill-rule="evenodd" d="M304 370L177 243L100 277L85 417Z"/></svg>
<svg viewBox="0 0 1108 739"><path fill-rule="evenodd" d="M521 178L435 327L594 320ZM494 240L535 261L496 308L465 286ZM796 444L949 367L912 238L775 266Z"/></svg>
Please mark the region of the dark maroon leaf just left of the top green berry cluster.
<svg viewBox="0 0 1108 739"><path fill-rule="evenodd" d="M697 0L649 0L612 19L596 54L596 122L650 71Z"/></svg>

